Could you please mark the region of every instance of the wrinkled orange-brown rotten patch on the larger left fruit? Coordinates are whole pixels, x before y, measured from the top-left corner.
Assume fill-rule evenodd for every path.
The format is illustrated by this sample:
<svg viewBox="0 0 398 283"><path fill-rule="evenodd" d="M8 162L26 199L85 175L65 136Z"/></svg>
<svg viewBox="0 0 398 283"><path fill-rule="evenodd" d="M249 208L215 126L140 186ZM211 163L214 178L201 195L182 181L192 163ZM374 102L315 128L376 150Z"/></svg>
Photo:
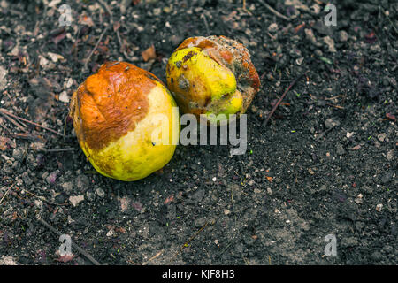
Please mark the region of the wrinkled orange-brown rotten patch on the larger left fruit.
<svg viewBox="0 0 398 283"><path fill-rule="evenodd" d="M107 62L73 94L69 115L80 145L91 150L119 140L148 113L155 75L126 62ZM104 170L106 171L106 170Z"/></svg>

